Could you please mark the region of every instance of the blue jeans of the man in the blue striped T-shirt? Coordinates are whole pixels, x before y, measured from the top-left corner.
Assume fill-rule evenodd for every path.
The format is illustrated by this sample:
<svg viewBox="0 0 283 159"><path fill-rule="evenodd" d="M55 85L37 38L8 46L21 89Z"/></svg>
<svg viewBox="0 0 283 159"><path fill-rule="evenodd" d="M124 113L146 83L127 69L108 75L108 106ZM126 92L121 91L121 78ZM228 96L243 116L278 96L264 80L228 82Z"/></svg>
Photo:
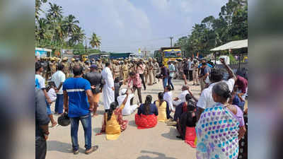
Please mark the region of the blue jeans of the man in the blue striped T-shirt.
<svg viewBox="0 0 283 159"><path fill-rule="evenodd" d="M78 143L78 129L79 129L79 121L81 120L81 124L83 124L84 131L84 142L86 150L91 148L91 114L88 114L84 117L70 117L71 121L71 144L73 146L73 150L79 150Z"/></svg>

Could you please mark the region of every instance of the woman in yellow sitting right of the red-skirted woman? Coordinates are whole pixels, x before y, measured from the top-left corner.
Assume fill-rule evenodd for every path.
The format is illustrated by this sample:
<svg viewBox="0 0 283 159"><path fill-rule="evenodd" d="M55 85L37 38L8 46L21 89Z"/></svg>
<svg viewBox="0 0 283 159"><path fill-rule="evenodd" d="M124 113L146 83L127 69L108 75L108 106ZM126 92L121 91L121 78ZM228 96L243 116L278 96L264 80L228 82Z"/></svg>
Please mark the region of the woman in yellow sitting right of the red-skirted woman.
<svg viewBox="0 0 283 159"><path fill-rule="evenodd" d="M170 119L170 110L168 102L163 99L163 93L158 93L158 100L154 102L154 105L158 108L158 122L166 122Z"/></svg>

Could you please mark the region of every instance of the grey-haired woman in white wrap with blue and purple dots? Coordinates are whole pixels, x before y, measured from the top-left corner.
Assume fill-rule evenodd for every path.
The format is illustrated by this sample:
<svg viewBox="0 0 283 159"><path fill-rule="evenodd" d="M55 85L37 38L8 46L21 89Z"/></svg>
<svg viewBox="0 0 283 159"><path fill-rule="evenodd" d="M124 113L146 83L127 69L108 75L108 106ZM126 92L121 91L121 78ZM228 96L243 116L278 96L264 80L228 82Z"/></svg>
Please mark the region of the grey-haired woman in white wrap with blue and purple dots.
<svg viewBox="0 0 283 159"><path fill-rule="evenodd" d="M230 105L229 86L220 82L212 88L217 102L202 112L197 122L197 159L238 158L238 141L246 133L243 112Z"/></svg>

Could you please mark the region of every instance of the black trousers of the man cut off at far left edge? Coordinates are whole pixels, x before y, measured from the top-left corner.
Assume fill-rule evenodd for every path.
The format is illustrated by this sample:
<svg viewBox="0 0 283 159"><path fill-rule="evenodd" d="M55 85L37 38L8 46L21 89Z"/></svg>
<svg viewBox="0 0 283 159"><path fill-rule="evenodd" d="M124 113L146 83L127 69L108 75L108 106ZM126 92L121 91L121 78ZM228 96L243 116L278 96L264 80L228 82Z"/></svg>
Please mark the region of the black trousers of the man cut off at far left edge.
<svg viewBox="0 0 283 159"><path fill-rule="evenodd" d="M45 159L47 151L46 141L43 136L35 136L35 159Z"/></svg>

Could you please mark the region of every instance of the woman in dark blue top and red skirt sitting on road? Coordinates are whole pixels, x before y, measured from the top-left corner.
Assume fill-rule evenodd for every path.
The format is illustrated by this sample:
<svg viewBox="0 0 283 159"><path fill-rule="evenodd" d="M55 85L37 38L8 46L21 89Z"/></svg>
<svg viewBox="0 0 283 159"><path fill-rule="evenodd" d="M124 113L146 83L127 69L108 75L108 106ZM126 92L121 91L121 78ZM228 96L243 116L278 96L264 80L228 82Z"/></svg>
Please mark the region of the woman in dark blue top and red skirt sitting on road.
<svg viewBox="0 0 283 159"><path fill-rule="evenodd" d="M156 126L158 110L156 105L151 104L151 101L151 95L147 95L144 104L139 106L137 114L134 117L137 129L148 129Z"/></svg>

